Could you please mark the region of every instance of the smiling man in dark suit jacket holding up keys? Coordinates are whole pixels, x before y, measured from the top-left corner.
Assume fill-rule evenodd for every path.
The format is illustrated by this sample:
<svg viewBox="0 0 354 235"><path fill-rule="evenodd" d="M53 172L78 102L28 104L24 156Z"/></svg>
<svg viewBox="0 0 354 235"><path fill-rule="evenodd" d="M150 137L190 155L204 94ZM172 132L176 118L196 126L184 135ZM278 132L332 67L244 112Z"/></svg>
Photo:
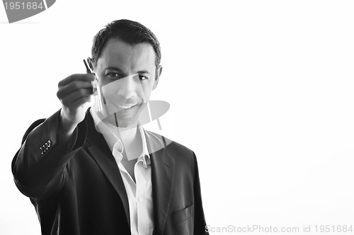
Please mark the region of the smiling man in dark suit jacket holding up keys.
<svg viewBox="0 0 354 235"><path fill-rule="evenodd" d="M160 59L148 28L113 21L93 38L94 74L59 82L62 108L29 127L12 163L42 234L207 234L195 154L141 126Z"/></svg>

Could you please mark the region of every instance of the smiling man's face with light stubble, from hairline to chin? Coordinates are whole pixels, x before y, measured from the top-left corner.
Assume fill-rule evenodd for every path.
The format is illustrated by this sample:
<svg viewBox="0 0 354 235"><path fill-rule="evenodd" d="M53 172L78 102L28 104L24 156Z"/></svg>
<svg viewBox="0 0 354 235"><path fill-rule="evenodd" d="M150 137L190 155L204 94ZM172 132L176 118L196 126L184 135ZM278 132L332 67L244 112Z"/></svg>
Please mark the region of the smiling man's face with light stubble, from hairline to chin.
<svg viewBox="0 0 354 235"><path fill-rule="evenodd" d="M97 60L94 72L101 84L105 103L114 106L118 126L129 127L149 101L159 82L161 68L156 71L155 52L151 45L141 43L132 46L110 39ZM110 115L108 121L116 125L114 115Z"/></svg>

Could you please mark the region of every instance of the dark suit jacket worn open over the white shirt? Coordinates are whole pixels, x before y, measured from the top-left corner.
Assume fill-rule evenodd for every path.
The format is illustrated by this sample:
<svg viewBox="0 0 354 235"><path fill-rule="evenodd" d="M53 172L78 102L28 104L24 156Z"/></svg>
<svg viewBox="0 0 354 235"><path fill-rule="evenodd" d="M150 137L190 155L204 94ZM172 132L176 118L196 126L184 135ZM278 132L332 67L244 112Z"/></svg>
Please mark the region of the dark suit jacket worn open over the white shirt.
<svg viewBox="0 0 354 235"><path fill-rule="evenodd" d="M42 234L130 234L120 171L89 112L74 142L59 142L58 127L59 111L34 122L12 162L15 183L35 206ZM156 134L145 134L149 149ZM207 234L193 151L171 142L150 156L154 234Z"/></svg>

